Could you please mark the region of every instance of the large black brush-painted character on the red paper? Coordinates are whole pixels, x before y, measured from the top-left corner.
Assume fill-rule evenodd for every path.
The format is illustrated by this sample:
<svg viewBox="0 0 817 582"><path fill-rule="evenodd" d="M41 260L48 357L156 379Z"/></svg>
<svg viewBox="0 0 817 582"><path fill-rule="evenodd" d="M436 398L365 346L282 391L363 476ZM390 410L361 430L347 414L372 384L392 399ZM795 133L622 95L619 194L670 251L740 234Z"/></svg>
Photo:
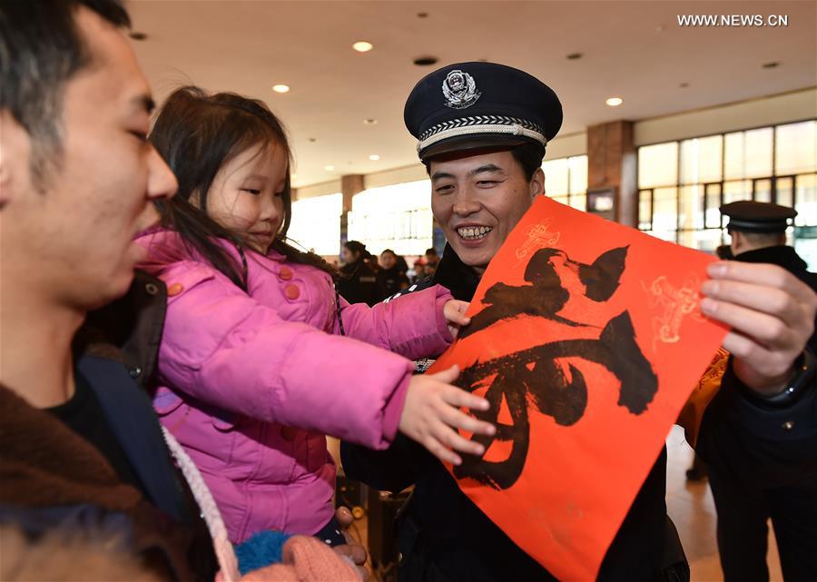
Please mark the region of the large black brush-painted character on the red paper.
<svg viewBox="0 0 817 582"><path fill-rule="evenodd" d="M517 297L525 293L527 299L532 299L534 293L529 290L538 287L538 290L542 291L541 282L546 280L550 283L545 289L557 288L566 291L561 281L558 280L556 271L551 269L550 271L554 273L554 276L551 276L546 267L546 265L553 267L550 259L557 254L565 259L566 264L576 265L579 279L585 286L584 294L593 301L607 301L618 288L620 276L624 271L626 248L605 252L592 265L570 261L564 252L552 251L552 249L543 249L536 252L531 258L533 262L537 255L539 257L535 267L532 269L528 264L526 270L526 281L533 282L533 286L513 288L503 285L503 292L516 289L519 293ZM544 273L544 275L528 277L529 272ZM497 285L491 289L496 288ZM557 290L551 292L550 297L553 296L559 296ZM536 295L536 297L540 296ZM567 299L562 301L561 306L564 306ZM527 305L519 303L511 308L502 308L504 313L509 315L494 319L500 310L499 306L494 303L477 314L471 325L477 321L479 315L494 306L497 307L494 314L482 320L482 329L498 319L507 319L507 317L515 317L522 313L536 314L555 321L561 320L561 318L556 319L558 318L556 312L561 309L561 306L548 310L540 304L534 309L529 309ZM618 405L624 406L633 414L644 412L658 390L657 376L635 341L635 328L627 311L608 321L597 339L556 340L495 360L477 362L463 370L457 384L470 391L488 384L485 398L490 402L491 407L485 412L478 412L477 417L497 424L497 434L493 437L475 435L472 440L482 444L486 450L495 440L510 441L511 452L509 457L503 461L464 457L463 464L454 469L456 477L475 478L497 489L509 488L517 482L525 467L529 447L529 401L542 414L552 417L561 426L571 426L582 418L587 405L586 380L581 370L572 363L567 366L569 373L565 372L557 361L565 358L595 362L609 370L620 384ZM510 424L497 423L503 400L510 413Z"/></svg>

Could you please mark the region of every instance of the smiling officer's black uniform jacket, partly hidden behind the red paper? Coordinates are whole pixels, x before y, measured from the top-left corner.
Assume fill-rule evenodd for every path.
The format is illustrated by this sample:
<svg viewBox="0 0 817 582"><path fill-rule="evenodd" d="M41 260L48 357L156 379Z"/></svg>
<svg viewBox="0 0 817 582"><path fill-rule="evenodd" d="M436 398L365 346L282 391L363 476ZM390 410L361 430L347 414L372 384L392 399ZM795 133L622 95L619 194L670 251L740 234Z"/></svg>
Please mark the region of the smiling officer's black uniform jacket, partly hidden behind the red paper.
<svg viewBox="0 0 817 582"><path fill-rule="evenodd" d="M479 277L446 248L425 286L441 284L470 301ZM418 289L423 284L418 285ZM412 290L416 291L416 290ZM397 300L399 301L399 299ZM793 422L792 429L783 423ZM787 425L789 426L789 425ZM739 478L785 482L817 474L817 387L781 411L761 409L743 398L730 372L704 414L698 453ZM349 478L400 491L416 486L399 521L400 582L539 582L555 579L517 547L458 488L448 470L426 449L399 435L384 451L341 445ZM599 580L655 580L666 563L666 449L638 492L608 550Z"/></svg>

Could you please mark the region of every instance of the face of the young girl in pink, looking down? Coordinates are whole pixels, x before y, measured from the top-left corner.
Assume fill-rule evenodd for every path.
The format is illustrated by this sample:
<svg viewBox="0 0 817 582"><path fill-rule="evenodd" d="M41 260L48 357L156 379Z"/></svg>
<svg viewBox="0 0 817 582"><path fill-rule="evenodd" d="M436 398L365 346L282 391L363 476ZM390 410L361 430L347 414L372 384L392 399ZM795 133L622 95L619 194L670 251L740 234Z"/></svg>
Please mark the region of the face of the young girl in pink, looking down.
<svg viewBox="0 0 817 582"><path fill-rule="evenodd" d="M288 156L277 143L255 145L225 163L207 195L207 214L246 238L261 254L270 250L284 219Z"/></svg>

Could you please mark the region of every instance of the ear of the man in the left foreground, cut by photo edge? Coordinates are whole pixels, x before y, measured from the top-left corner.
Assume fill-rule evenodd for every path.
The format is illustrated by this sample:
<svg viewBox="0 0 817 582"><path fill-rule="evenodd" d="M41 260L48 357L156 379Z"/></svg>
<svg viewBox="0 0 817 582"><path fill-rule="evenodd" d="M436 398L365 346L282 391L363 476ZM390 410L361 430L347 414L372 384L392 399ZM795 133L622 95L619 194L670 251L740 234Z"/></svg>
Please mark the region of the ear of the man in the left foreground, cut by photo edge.
<svg viewBox="0 0 817 582"><path fill-rule="evenodd" d="M0 210L31 187L31 137L8 109L0 110Z"/></svg>

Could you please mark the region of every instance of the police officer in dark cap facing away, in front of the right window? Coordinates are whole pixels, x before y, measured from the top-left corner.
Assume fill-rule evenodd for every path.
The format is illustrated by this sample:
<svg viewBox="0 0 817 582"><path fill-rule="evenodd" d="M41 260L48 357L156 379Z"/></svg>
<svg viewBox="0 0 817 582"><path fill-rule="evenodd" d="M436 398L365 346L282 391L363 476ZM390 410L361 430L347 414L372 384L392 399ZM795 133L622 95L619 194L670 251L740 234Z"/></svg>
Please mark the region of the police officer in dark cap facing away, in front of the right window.
<svg viewBox="0 0 817 582"><path fill-rule="evenodd" d="M721 207L729 218L735 261L773 263L791 272L817 291L817 275L806 271L792 247L786 229L797 212L769 202L732 202ZM814 350L817 334L809 341ZM779 478L740 482L719 470L710 471L718 511L718 548L726 582L766 582L767 522L771 518L780 553L783 577L817 579L817 476L783 473Z"/></svg>

